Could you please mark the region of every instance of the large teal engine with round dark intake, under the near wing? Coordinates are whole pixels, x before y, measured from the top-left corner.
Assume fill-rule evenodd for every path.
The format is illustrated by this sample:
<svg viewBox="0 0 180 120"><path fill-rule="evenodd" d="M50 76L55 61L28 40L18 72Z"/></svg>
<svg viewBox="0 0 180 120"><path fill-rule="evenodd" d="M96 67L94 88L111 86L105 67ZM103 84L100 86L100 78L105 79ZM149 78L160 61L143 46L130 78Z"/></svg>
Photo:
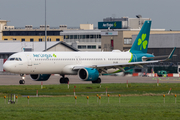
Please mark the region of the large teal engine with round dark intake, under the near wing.
<svg viewBox="0 0 180 120"><path fill-rule="evenodd" d="M99 77L99 72L95 68L82 68L78 71L79 78L84 81L95 81Z"/></svg>

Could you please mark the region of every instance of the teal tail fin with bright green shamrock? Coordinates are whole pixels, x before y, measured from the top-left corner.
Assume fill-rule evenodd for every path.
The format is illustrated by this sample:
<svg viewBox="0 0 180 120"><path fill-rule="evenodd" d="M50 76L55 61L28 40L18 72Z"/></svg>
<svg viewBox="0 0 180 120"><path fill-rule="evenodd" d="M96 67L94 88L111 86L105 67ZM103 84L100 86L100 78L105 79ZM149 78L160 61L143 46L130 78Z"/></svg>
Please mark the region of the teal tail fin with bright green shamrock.
<svg viewBox="0 0 180 120"><path fill-rule="evenodd" d="M131 53L147 53L150 28L151 21L145 21L130 49Z"/></svg>

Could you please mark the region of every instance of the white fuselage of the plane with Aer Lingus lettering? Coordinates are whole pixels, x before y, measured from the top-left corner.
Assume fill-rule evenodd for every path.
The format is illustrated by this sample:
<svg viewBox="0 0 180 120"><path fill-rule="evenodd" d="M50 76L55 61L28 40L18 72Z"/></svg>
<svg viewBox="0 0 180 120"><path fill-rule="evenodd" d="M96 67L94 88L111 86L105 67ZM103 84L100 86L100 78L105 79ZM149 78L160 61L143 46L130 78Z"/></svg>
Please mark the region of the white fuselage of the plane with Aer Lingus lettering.
<svg viewBox="0 0 180 120"><path fill-rule="evenodd" d="M13 58L15 58L13 60ZM16 58L18 58L16 60ZM19 59L20 58L20 59ZM128 63L128 52L20 52L13 54L4 69L20 74L66 74L75 75L74 66L92 66ZM118 69L109 69L108 73Z"/></svg>

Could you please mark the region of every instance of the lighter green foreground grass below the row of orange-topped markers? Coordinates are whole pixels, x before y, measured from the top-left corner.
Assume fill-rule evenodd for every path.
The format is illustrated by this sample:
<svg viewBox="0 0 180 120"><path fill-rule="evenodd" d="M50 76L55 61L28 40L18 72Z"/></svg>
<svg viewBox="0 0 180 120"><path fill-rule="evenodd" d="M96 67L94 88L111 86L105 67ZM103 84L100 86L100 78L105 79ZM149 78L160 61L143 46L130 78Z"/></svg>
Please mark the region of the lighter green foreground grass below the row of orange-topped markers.
<svg viewBox="0 0 180 120"><path fill-rule="evenodd" d="M101 104L96 97L26 97L18 98L17 104L5 104L0 99L1 119L179 119L180 102L175 104L174 96L124 96L102 97Z"/></svg>

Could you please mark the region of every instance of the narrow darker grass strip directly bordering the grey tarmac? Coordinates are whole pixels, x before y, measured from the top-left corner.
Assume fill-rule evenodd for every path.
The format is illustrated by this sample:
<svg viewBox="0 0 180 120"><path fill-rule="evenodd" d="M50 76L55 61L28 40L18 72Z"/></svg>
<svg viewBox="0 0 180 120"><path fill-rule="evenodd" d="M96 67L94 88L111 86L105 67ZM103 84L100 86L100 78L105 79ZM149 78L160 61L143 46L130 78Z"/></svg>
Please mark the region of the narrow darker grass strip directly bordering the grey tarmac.
<svg viewBox="0 0 180 120"><path fill-rule="evenodd" d="M180 84L177 83L162 83L157 86L156 84L147 83L131 83L129 87L126 84L102 84L101 88L99 84L70 84L70 88L67 85L44 85L41 89L40 85L10 85L0 86L0 96L15 93L19 95L35 95L38 90L39 95L73 95L74 86L77 95L95 95L104 94L106 88L110 94L166 94L170 88L171 93L180 94Z"/></svg>

